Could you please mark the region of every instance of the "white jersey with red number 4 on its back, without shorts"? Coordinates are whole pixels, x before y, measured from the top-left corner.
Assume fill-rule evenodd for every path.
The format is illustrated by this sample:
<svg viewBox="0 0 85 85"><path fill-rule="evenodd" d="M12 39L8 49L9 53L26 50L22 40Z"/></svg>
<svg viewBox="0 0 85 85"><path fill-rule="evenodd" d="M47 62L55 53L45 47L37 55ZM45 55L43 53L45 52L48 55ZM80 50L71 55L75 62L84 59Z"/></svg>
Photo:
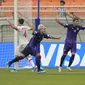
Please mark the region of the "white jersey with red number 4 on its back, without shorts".
<svg viewBox="0 0 85 85"><path fill-rule="evenodd" d="M31 29L28 26L17 26L18 28L18 39L19 45L27 44L29 41L29 34L28 31Z"/></svg>

